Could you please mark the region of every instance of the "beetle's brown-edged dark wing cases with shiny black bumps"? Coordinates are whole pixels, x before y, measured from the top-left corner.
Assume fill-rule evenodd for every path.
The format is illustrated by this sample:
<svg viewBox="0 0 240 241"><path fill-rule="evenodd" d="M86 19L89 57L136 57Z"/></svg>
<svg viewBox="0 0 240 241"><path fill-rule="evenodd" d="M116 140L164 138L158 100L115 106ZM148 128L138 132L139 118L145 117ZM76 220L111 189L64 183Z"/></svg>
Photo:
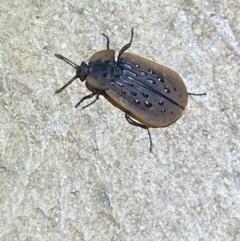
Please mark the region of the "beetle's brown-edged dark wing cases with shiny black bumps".
<svg viewBox="0 0 240 241"><path fill-rule="evenodd" d="M188 102L186 86L175 71L127 52L116 63L106 93L134 117L155 127L175 122Z"/></svg>

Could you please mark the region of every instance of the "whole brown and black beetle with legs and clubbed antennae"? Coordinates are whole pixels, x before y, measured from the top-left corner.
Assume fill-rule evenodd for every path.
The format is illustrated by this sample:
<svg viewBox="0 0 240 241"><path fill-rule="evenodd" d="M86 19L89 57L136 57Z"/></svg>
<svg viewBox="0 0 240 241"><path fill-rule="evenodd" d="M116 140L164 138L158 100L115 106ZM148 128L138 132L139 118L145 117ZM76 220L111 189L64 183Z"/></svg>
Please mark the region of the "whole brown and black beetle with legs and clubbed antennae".
<svg viewBox="0 0 240 241"><path fill-rule="evenodd" d="M152 151L152 138L149 127L165 127L175 122L182 114L188 103L188 95L205 95L188 93L181 77L172 69L157 64L138 55L126 52L131 47L134 31L131 30L129 43L119 51L115 60L115 50L107 49L96 52L88 64L75 64L68 58L55 56L76 69L75 76L65 85L55 91L62 92L75 79L86 81L91 91L75 105L78 107L86 99L95 99L82 107L92 105L104 95L113 104L125 112L125 118L131 125L146 129Z"/></svg>

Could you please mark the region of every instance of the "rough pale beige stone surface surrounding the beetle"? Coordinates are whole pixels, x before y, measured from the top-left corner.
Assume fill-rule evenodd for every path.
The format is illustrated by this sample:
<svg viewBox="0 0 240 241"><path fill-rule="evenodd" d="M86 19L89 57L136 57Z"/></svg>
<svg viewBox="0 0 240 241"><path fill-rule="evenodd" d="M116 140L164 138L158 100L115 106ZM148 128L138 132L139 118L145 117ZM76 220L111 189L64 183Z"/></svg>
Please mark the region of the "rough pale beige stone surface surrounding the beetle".
<svg viewBox="0 0 240 241"><path fill-rule="evenodd" d="M1 240L240 240L240 7L220 0L1 1ZM105 32L181 74L184 115L144 130L54 57Z"/></svg>

